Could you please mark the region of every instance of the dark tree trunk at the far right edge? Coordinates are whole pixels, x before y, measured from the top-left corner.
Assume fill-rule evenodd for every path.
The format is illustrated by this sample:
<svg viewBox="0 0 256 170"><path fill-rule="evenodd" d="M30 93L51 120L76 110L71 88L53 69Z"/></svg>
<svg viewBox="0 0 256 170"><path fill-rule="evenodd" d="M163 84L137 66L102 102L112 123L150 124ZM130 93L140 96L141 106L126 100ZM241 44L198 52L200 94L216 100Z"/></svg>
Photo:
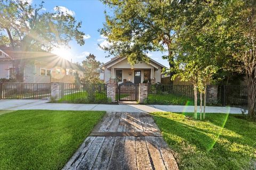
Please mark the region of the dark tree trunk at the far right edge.
<svg viewBox="0 0 256 170"><path fill-rule="evenodd" d="M248 116L255 118L256 116L256 82L255 78L248 77Z"/></svg>

